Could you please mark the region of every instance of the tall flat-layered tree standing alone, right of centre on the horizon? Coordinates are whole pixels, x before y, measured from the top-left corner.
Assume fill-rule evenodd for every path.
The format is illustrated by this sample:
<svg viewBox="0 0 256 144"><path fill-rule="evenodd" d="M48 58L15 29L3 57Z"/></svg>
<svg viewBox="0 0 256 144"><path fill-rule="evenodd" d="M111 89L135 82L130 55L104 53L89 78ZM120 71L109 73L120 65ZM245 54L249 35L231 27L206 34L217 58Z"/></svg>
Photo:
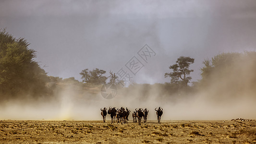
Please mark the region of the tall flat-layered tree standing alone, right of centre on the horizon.
<svg viewBox="0 0 256 144"><path fill-rule="evenodd" d="M189 74L194 70L189 70L190 64L194 63L195 59L190 57L183 57L177 59L176 64L171 65L169 68L173 71L165 73L166 77L171 77L171 84L187 85L192 79Z"/></svg>

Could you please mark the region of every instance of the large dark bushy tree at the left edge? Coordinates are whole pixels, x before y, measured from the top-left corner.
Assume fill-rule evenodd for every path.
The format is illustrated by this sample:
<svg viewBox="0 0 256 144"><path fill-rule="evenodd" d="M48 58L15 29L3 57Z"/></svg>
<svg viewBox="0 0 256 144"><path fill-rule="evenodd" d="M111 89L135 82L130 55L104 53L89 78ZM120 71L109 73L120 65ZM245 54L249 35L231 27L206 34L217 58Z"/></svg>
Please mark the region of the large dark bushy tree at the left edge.
<svg viewBox="0 0 256 144"><path fill-rule="evenodd" d="M0 96L38 96L47 92L46 72L38 65L36 51L24 38L0 30Z"/></svg>

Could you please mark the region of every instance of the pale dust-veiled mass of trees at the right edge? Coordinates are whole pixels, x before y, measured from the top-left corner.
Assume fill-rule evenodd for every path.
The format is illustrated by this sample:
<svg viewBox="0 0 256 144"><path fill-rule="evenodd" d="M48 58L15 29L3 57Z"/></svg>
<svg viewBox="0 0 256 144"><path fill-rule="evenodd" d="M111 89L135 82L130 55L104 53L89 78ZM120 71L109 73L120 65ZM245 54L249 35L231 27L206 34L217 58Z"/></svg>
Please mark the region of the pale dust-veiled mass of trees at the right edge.
<svg viewBox="0 0 256 144"><path fill-rule="evenodd" d="M256 97L256 52L221 53L203 61L197 88L215 97Z"/></svg>

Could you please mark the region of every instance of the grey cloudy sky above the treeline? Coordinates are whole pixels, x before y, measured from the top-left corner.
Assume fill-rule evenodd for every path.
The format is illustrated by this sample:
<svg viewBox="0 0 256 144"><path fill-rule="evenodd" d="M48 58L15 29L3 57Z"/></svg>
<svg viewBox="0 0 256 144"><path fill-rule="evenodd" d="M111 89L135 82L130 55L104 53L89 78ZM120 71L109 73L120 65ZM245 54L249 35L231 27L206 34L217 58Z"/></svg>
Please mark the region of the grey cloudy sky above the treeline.
<svg viewBox="0 0 256 144"><path fill-rule="evenodd" d="M132 80L164 83L180 56L202 61L222 52L256 49L255 0L1 0L0 28L24 37L52 76L75 77L83 69L129 73L136 57L144 65ZM145 62L137 52L156 53Z"/></svg>

